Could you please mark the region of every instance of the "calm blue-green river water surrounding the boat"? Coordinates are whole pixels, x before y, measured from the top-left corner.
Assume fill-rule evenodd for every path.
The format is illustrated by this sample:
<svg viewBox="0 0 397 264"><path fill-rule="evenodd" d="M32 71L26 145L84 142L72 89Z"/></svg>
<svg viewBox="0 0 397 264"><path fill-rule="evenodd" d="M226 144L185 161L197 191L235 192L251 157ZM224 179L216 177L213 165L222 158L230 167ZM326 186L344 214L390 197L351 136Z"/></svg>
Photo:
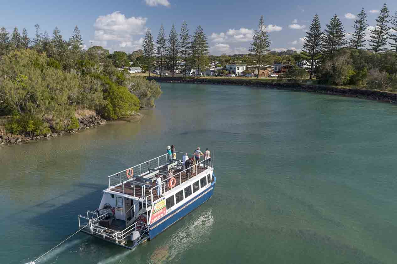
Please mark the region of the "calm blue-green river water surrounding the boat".
<svg viewBox="0 0 397 264"><path fill-rule="evenodd" d="M214 196L132 251L77 234L42 262L395 263L397 106L162 84L139 122L0 148L0 263L34 260L96 209L107 176L209 148Z"/></svg>

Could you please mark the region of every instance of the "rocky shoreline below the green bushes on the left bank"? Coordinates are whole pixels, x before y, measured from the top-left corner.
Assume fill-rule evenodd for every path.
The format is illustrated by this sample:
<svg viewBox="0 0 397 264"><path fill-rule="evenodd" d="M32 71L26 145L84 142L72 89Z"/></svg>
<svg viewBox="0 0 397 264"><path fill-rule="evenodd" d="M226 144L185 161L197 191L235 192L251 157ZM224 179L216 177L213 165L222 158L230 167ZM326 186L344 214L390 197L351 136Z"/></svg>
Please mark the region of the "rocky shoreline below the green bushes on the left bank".
<svg viewBox="0 0 397 264"><path fill-rule="evenodd" d="M102 125L106 122L103 118L100 116L82 116L78 118L79 120L79 128L77 129L70 129L67 131L54 131L52 129L51 133L48 133L47 135L41 135L41 136L31 136L29 134L25 135L12 135L10 133L6 133L4 131L0 131L0 146L1 145L11 145L11 144L17 144L21 142L30 142L30 141L37 141L40 139L46 139L50 137L58 137L62 136L65 133L76 133L79 130L83 129L89 129L90 127L94 127L97 125Z"/></svg>

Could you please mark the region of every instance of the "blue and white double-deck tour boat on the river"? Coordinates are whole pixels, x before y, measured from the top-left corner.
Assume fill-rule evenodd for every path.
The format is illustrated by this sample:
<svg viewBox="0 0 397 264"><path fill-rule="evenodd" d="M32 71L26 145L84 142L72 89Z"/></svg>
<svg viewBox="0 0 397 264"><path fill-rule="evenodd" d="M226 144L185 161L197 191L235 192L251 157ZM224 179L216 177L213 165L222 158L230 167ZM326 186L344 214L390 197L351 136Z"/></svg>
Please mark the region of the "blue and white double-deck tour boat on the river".
<svg viewBox="0 0 397 264"><path fill-rule="evenodd" d="M185 169L181 160L164 154L110 175L98 209L79 215L79 228L133 249L211 198L216 182L213 167L208 158Z"/></svg>

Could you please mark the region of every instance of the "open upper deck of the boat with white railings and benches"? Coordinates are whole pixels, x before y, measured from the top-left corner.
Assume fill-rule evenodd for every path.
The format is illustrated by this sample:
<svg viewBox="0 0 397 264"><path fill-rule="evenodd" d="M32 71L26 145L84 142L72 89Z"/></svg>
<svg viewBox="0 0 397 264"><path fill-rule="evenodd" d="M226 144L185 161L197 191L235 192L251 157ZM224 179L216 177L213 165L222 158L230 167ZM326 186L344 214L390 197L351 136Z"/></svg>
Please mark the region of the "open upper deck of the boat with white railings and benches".
<svg viewBox="0 0 397 264"><path fill-rule="evenodd" d="M182 154L185 152L178 153ZM169 160L168 154L163 154L108 176L109 188L105 191L134 196L136 199L142 199L142 201L150 204L171 190L168 186L171 177L175 178L175 186L178 186L210 168L210 159L204 159L185 169L181 160ZM171 177L168 174L170 170L173 171ZM156 190L156 175L158 174L162 177L162 195L159 195Z"/></svg>

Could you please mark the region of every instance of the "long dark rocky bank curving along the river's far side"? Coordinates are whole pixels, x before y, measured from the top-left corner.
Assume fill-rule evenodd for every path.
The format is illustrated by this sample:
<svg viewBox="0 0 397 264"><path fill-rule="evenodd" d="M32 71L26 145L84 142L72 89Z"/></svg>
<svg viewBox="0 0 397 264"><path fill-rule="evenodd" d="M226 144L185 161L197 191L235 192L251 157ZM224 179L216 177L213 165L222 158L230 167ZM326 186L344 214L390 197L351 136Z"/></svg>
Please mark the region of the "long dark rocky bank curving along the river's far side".
<svg viewBox="0 0 397 264"><path fill-rule="evenodd" d="M183 78L183 77L148 77L148 80L168 83L188 84L216 84L216 85L246 85L264 87L270 89L283 89L291 91L306 91L312 93L326 93L362 99L397 103L397 93L387 91L371 90L358 87L340 87L333 85L319 85L312 83L283 83L277 79L253 79L253 78Z"/></svg>

